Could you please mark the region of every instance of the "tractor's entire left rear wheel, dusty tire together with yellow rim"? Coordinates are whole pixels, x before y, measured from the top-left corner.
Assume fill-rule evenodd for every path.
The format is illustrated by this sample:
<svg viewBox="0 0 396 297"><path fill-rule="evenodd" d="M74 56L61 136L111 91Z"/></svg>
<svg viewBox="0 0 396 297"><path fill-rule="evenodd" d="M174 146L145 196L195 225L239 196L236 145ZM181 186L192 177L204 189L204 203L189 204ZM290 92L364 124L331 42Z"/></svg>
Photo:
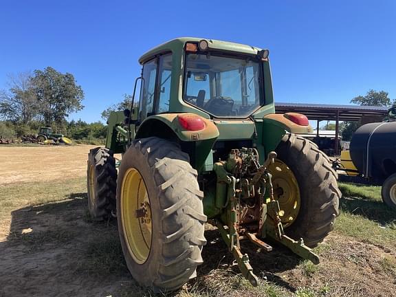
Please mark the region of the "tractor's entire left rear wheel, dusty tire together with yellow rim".
<svg viewBox="0 0 396 297"><path fill-rule="evenodd" d="M201 199L197 171L177 144L133 141L122 157L116 200L122 251L137 283L167 292L196 276L206 243Z"/></svg>

